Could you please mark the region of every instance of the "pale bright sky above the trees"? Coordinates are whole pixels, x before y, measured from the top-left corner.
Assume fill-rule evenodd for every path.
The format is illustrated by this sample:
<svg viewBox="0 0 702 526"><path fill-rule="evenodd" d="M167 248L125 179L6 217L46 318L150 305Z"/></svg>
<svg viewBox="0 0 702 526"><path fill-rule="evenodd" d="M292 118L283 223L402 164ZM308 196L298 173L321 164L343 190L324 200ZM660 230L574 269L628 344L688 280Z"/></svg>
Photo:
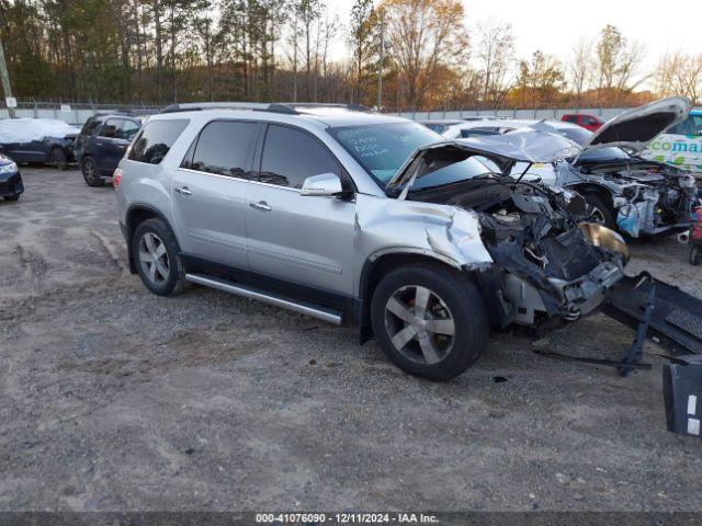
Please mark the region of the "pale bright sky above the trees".
<svg viewBox="0 0 702 526"><path fill-rule="evenodd" d="M653 69L666 50L702 53L702 18L686 9L692 2L653 2L652 0L462 0L468 28L486 19L510 22L517 38L519 58L541 49L566 59L581 36L597 37L607 24L616 25L630 39L643 41L647 49L644 68ZM330 0L343 22L353 0ZM667 9L668 8L668 9ZM699 11L699 10L698 10ZM346 53L337 43L335 54Z"/></svg>

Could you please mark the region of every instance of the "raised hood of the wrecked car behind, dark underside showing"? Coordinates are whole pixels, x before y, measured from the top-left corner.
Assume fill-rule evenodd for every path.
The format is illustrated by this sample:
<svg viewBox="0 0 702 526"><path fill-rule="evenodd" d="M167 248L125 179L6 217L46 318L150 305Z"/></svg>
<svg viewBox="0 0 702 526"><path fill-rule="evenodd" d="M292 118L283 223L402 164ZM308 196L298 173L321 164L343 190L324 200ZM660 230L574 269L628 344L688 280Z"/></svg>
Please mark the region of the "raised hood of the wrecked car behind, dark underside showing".
<svg viewBox="0 0 702 526"><path fill-rule="evenodd" d="M692 103L684 96L671 96L629 110L598 129L585 149L619 146L638 153L668 128L686 119Z"/></svg>

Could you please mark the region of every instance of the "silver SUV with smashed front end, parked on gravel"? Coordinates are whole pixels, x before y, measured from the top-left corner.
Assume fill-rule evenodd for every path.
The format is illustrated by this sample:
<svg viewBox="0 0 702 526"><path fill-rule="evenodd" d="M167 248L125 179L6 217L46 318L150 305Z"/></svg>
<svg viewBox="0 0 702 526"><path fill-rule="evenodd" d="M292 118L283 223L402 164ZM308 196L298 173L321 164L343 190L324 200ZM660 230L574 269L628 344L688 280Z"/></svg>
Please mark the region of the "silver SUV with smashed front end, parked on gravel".
<svg viewBox="0 0 702 526"><path fill-rule="evenodd" d="M449 379L490 328L595 311L627 258L616 233L579 225L577 194L491 173L485 155L354 107L171 106L115 172L131 268L157 295L191 282L348 318L404 370Z"/></svg>

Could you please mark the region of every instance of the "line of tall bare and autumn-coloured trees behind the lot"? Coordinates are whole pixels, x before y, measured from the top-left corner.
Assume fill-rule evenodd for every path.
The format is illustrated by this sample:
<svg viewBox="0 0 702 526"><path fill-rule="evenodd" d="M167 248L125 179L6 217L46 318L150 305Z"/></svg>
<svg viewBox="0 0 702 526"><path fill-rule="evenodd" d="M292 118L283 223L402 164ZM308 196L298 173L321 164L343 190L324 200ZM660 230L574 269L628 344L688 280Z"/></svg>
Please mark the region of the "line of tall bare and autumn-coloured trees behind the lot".
<svg viewBox="0 0 702 526"><path fill-rule="evenodd" d="M608 25L566 57L519 58L510 24L464 20L460 0L354 0L348 14L325 0L0 0L23 101L372 106L382 76L386 111L702 102L702 55L646 72L645 46Z"/></svg>

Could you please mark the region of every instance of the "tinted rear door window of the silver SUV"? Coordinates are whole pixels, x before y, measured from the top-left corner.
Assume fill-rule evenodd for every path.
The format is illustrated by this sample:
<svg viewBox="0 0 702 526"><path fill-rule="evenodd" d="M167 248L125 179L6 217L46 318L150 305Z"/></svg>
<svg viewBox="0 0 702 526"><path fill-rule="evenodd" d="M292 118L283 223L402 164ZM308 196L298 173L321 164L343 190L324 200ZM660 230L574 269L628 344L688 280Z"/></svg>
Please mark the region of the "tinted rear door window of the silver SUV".
<svg viewBox="0 0 702 526"><path fill-rule="evenodd" d="M192 162L183 168L247 179L246 160L258 124L235 121L210 123L200 133Z"/></svg>

